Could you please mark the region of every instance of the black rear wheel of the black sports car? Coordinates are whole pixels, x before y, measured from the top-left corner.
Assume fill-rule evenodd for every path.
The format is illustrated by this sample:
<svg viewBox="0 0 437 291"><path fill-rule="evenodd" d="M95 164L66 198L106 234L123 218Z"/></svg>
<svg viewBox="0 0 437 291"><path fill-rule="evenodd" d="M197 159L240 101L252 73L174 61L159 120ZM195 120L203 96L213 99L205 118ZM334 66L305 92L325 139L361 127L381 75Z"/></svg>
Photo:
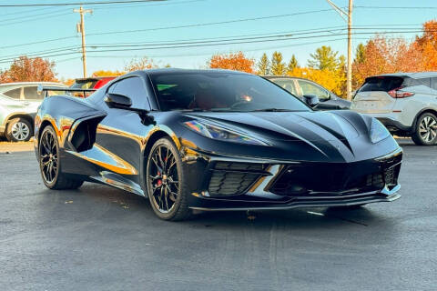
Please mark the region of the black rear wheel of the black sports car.
<svg viewBox="0 0 437 291"><path fill-rule="evenodd" d="M62 173L59 142L55 129L51 125L44 128L38 145L39 167L47 188L76 189L84 184L84 181L71 179Z"/></svg>

